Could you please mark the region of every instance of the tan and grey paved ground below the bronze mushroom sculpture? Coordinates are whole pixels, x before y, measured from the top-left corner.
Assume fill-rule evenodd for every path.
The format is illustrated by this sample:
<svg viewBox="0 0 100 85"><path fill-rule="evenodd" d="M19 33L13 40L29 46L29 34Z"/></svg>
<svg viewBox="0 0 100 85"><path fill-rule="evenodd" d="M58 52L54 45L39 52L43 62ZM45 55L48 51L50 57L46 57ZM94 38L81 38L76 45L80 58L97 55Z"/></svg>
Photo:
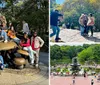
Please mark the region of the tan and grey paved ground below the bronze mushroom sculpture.
<svg viewBox="0 0 100 85"><path fill-rule="evenodd" d="M34 69L31 72L20 74L20 70L16 71L18 73L12 73L5 69L1 71L0 75L0 85L49 85L48 80L48 67L46 63L48 62L48 53L41 53L40 57L44 57L45 61L40 59L40 70ZM46 58L47 57L47 58ZM24 72L25 69L22 71Z"/></svg>

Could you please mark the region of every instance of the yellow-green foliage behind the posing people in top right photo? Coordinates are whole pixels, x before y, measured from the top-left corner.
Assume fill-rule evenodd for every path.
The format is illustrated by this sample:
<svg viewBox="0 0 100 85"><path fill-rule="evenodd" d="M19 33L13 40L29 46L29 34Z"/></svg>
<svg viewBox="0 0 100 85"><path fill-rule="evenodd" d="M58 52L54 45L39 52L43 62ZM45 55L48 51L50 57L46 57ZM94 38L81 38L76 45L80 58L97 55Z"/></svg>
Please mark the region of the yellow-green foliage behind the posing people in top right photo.
<svg viewBox="0 0 100 85"><path fill-rule="evenodd" d="M53 7L52 7L53 8ZM55 6L59 9L59 6ZM73 23L74 27L79 26L79 17L82 13L89 14L93 13L95 21L95 31L100 31L100 0L65 0L61 5L60 11L64 14L64 21L66 23Z"/></svg>

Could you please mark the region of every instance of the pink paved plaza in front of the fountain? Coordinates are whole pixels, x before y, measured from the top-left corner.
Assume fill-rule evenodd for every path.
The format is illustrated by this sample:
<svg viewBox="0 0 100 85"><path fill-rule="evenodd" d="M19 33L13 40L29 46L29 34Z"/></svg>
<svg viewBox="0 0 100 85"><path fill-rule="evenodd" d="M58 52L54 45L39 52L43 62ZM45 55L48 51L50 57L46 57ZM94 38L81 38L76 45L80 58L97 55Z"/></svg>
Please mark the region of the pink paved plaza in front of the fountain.
<svg viewBox="0 0 100 85"><path fill-rule="evenodd" d="M76 77L74 85L91 85L91 79L94 79L94 85L100 85L94 77ZM51 85L73 85L72 77L51 76L50 82Z"/></svg>

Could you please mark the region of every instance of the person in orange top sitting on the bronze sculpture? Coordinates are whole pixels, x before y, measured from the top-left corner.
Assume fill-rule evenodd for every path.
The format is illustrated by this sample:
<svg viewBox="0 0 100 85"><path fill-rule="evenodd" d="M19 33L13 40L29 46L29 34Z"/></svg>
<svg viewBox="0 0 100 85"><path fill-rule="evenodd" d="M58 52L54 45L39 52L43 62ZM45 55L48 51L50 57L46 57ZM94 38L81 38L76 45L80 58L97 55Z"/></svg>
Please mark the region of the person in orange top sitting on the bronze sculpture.
<svg viewBox="0 0 100 85"><path fill-rule="evenodd" d="M13 39L14 42L16 42L17 44L20 43L20 39L16 37L16 32L14 30L14 27L11 26L10 30L8 30L8 36Z"/></svg>

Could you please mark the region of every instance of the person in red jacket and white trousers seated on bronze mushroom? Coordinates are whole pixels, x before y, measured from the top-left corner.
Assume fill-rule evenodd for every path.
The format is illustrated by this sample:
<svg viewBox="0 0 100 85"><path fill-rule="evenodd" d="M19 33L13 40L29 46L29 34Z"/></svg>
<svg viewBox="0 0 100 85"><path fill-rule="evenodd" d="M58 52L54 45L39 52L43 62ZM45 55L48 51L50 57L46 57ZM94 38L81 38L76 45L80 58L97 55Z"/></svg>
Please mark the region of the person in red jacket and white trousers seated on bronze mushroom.
<svg viewBox="0 0 100 85"><path fill-rule="evenodd" d="M29 52L29 58L30 58L30 64L34 64L34 54L36 54L35 51L32 50L32 47L30 45L30 39L28 38L27 33L24 34L24 41L20 42L20 45L23 47L23 50L26 50Z"/></svg>

